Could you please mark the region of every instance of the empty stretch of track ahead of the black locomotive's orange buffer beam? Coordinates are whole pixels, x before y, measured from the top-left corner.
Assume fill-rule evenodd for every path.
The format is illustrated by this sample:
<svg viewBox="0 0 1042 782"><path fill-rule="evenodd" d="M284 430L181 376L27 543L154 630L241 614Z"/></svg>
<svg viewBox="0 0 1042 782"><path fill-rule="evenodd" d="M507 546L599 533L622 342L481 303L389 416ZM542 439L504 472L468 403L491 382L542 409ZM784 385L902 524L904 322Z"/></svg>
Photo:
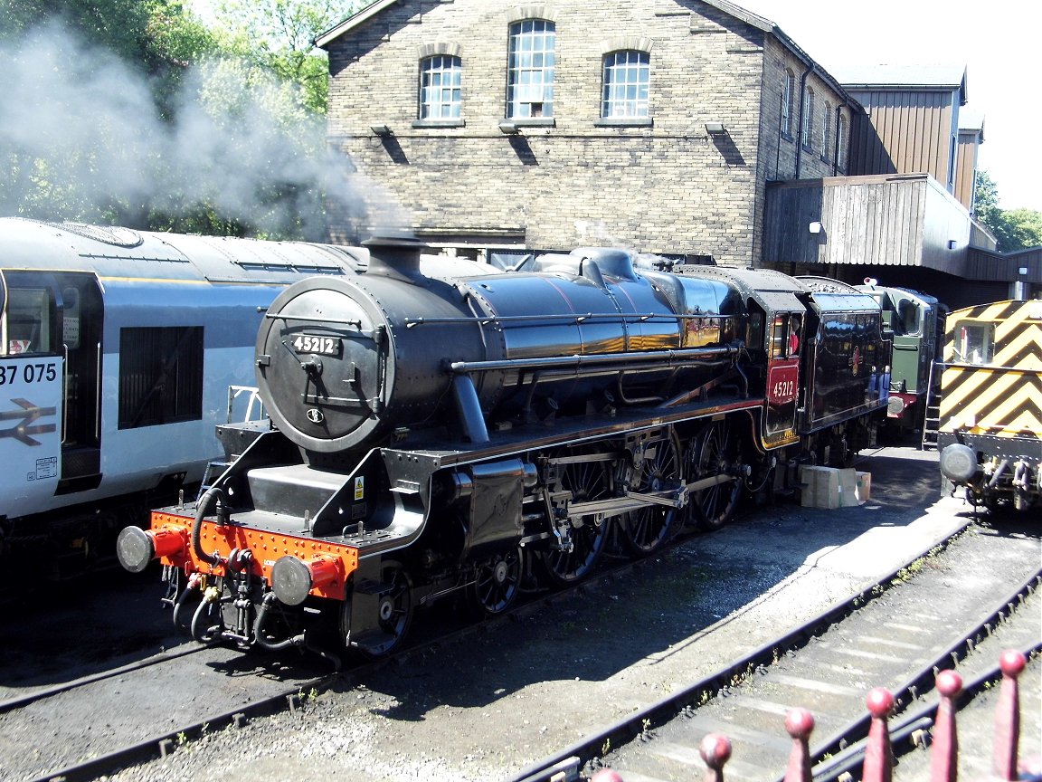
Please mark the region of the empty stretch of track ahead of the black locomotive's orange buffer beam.
<svg viewBox="0 0 1042 782"><path fill-rule="evenodd" d="M94 779L165 755L190 735L286 708L321 686L327 666L319 674L313 663L187 645L9 698L0 703L0 779Z"/></svg>

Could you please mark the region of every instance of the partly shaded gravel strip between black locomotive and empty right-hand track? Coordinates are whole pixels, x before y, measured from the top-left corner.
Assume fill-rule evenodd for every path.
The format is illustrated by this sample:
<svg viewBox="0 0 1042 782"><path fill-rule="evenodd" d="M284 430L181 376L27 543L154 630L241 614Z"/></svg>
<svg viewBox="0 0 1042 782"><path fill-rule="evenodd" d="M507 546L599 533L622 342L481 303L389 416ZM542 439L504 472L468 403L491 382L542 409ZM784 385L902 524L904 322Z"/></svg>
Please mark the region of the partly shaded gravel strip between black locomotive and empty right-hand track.
<svg viewBox="0 0 1042 782"><path fill-rule="evenodd" d="M390 666L363 687L304 693L297 713L206 735L111 779L510 777L814 615L965 522L959 500L937 502L936 455L887 449L866 468L873 497L860 508L760 511L632 576ZM1038 551L1038 537L1025 544Z"/></svg>

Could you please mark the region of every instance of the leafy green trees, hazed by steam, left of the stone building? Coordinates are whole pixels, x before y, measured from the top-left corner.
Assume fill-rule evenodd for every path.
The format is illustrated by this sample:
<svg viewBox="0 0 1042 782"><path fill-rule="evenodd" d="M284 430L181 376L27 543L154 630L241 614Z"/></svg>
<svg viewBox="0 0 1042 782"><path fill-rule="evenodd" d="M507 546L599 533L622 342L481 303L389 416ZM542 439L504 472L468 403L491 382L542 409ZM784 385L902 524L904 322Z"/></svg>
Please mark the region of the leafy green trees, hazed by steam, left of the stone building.
<svg viewBox="0 0 1042 782"><path fill-rule="evenodd" d="M324 238L334 5L0 0L0 214Z"/></svg>

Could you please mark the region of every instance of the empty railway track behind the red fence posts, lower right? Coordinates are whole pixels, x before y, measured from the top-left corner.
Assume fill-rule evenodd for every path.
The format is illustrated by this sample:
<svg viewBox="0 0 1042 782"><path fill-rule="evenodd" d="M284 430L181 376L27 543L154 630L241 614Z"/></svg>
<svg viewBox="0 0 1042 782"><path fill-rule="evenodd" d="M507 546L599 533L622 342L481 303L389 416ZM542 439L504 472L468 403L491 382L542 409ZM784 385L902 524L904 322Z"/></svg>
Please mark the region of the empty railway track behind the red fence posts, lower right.
<svg viewBox="0 0 1042 782"><path fill-rule="evenodd" d="M898 573L512 780L576 779L584 767L604 766L626 782L699 779L705 771L699 744L710 733L731 740L727 779L780 780L792 750L784 720L796 707L816 719L810 742L815 780L838 779L860 769L871 688L894 694L895 751L908 751L932 723L936 670L958 670L972 695L999 677L1002 650L1037 655L1040 584L1037 566L959 578L928 568L914 578ZM988 607L974 616L981 605Z"/></svg>

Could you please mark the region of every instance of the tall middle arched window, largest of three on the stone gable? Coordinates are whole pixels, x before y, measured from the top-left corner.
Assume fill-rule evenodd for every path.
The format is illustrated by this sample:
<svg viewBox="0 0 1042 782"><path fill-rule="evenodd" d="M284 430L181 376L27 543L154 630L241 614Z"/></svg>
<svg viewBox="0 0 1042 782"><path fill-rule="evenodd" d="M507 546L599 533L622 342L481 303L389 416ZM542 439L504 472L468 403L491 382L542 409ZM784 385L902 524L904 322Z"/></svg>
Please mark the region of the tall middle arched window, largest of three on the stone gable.
<svg viewBox="0 0 1042 782"><path fill-rule="evenodd" d="M506 77L506 116L553 116L553 66L556 28L545 19L511 25Z"/></svg>

